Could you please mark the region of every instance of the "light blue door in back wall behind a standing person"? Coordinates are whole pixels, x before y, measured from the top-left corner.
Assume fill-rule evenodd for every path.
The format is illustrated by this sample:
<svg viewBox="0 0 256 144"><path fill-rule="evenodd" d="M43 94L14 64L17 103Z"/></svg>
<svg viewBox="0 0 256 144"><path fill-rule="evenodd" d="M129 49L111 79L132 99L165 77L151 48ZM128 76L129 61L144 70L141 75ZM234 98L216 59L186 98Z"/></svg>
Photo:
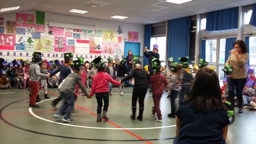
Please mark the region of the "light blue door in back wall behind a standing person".
<svg viewBox="0 0 256 144"><path fill-rule="evenodd" d="M140 56L140 43L139 42L124 42L124 58L131 50L133 55Z"/></svg>

